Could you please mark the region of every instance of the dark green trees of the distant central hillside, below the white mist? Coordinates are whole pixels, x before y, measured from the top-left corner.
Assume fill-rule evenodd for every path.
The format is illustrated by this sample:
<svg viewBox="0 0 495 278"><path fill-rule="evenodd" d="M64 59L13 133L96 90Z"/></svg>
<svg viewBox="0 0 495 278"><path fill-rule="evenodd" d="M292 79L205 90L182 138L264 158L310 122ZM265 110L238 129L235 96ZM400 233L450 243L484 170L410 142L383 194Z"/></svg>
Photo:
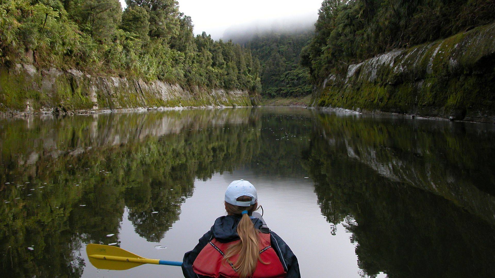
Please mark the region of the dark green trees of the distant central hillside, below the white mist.
<svg viewBox="0 0 495 278"><path fill-rule="evenodd" d="M287 97L311 93L309 71L300 65L300 52L312 36L312 31L267 32L245 43L261 63L262 95Z"/></svg>

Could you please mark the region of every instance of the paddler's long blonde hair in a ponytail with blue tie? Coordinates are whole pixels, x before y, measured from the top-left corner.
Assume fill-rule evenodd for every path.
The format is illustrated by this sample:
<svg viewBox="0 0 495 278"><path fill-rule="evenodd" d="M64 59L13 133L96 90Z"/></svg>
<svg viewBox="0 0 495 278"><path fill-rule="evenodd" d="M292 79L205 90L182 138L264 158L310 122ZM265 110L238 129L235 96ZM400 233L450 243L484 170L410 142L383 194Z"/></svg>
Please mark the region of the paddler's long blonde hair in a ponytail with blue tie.
<svg viewBox="0 0 495 278"><path fill-rule="evenodd" d="M247 202L250 201L251 197L241 196L237 198L237 201ZM231 263L229 260L233 256L239 254L239 258L234 263L234 268L239 274L240 278L251 277L256 270L256 264L260 261L262 264L268 264L261 261L259 256L259 230L254 228L248 214L258 209L258 203L250 205L248 207L241 207L231 205L225 202L225 210L229 215L242 215L239 225L237 225L237 234L241 240L233 245L231 245L225 252L224 260L227 263ZM247 210L248 214L242 214L243 211Z"/></svg>

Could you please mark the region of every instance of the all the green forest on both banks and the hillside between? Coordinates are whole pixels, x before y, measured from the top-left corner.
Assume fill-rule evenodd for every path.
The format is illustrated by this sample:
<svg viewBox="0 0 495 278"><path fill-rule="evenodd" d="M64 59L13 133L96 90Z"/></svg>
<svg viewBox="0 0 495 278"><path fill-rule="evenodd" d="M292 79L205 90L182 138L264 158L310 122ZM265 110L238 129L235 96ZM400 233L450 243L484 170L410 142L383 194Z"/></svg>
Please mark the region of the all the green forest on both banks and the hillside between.
<svg viewBox="0 0 495 278"><path fill-rule="evenodd" d="M0 0L0 66L304 96L330 73L494 21L493 0L324 0L315 28L194 36L175 0ZM313 32L314 30L314 32ZM243 33L244 34L244 33Z"/></svg>

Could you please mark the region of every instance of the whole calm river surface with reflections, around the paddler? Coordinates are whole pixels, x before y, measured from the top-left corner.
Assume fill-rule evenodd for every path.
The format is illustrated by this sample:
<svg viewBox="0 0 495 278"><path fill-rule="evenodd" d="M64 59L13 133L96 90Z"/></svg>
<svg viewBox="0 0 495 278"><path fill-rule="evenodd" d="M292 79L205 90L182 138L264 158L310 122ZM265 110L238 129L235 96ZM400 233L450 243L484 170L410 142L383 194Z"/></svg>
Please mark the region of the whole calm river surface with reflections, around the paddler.
<svg viewBox="0 0 495 278"><path fill-rule="evenodd" d="M494 136L301 108L3 118L0 277L181 277L99 271L85 246L182 260L235 179L302 277L494 277Z"/></svg>

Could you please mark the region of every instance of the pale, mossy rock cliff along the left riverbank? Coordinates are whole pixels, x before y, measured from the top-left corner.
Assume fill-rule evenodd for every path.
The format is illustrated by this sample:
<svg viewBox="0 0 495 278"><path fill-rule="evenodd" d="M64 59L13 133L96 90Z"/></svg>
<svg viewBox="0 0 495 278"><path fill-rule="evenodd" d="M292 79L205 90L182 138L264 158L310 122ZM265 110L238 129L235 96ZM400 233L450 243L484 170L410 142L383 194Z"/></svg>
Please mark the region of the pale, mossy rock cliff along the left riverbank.
<svg viewBox="0 0 495 278"><path fill-rule="evenodd" d="M78 110L181 106L251 106L246 91L193 91L141 79L91 76L77 70L0 68L0 113L65 113Z"/></svg>

